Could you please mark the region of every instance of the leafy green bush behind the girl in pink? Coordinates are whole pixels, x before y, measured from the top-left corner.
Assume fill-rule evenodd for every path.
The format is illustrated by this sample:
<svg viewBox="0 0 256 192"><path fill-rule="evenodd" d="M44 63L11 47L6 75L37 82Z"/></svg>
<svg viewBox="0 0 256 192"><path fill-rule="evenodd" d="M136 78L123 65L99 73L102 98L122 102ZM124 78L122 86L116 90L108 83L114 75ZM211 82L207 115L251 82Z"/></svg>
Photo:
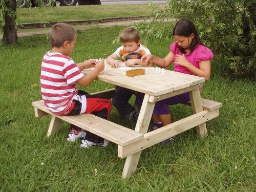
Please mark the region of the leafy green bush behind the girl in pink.
<svg viewBox="0 0 256 192"><path fill-rule="evenodd" d="M214 53L224 69L236 76L255 75L255 0L169 0L166 9L157 7L150 23L137 26L147 41L169 39L173 27L156 22L187 18L196 25L203 43Z"/></svg>

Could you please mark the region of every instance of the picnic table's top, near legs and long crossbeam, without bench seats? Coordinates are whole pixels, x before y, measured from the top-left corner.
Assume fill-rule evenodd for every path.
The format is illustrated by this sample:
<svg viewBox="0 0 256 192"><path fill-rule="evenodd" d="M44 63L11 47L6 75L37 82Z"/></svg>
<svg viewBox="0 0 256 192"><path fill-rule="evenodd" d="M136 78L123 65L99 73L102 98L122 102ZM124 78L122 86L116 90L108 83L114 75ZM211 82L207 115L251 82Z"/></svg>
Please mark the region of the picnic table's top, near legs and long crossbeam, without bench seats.
<svg viewBox="0 0 256 192"><path fill-rule="evenodd" d="M170 70L158 73L153 67L141 66L135 66L130 69L145 69L144 75L129 77L126 76L125 70L128 68L124 65L124 62L120 61L120 66L120 68L113 68L105 61L105 69L99 74L97 79L145 94L135 126L135 131L143 134L143 138L126 146L118 145L118 157L126 157L122 173L122 177L126 178L135 172L140 153L145 148L195 126L197 126L198 135L204 138L207 135L205 122L217 117L219 115L219 108L209 111L203 110L199 92L199 87L205 81L202 77ZM82 72L88 74L91 70L93 69L86 69ZM193 115L147 133L155 103L185 92L189 92Z"/></svg>

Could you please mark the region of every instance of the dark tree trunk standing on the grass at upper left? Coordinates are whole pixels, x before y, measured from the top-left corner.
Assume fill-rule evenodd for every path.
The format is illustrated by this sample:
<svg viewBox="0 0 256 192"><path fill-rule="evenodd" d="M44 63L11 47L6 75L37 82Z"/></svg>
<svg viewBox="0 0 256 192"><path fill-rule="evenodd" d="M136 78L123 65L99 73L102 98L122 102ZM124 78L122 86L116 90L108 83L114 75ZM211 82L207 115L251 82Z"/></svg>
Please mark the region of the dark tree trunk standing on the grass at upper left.
<svg viewBox="0 0 256 192"><path fill-rule="evenodd" d="M4 12L4 35L2 39L3 45L16 45L17 43L17 30L16 30L16 0L6 1L6 8Z"/></svg>

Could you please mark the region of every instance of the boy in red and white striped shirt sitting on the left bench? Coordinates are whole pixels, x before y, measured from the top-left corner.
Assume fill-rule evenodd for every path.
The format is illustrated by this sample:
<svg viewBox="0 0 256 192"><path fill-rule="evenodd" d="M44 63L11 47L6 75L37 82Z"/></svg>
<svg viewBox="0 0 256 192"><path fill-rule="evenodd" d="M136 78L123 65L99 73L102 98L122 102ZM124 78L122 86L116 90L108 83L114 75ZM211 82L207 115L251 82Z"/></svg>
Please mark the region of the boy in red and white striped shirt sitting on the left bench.
<svg viewBox="0 0 256 192"><path fill-rule="evenodd" d="M104 69L104 59L98 61L89 59L76 64L69 55L75 48L77 32L64 23L55 24L50 30L51 51L42 58L41 65L41 95L48 110L57 115L78 115L92 113L104 119L109 119L111 101L89 95L78 90L75 86L87 87ZM88 75L83 75L81 70L95 67ZM82 139L80 147L106 146L108 140L79 127L70 126L68 141L74 142Z"/></svg>

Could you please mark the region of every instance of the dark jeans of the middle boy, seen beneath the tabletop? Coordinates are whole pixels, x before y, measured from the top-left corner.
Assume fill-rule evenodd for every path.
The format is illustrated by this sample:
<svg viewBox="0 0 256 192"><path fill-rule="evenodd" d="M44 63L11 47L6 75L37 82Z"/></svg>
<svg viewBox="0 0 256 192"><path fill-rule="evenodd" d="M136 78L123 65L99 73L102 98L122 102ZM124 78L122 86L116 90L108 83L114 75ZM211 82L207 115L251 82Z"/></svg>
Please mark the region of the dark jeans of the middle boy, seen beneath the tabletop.
<svg viewBox="0 0 256 192"><path fill-rule="evenodd" d="M112 103L122 117L126 117L135 110L135 107L128 102L133 94L135 94L133 90L116 86Z"/></svg>

